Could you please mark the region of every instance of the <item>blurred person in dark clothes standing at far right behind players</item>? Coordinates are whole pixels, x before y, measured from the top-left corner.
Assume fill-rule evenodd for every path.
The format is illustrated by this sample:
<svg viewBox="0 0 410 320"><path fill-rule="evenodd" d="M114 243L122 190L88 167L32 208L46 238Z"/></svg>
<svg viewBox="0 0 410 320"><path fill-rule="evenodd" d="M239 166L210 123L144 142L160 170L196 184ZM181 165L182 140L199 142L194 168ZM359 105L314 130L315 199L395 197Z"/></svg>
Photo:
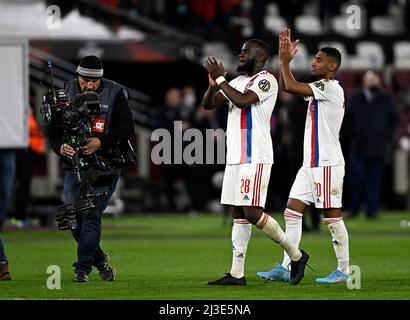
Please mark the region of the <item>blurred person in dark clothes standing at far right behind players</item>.
<svg viewBox="0 0 410 320"><path fill-rule="evenodd" d="M391 160L398 121L398 109L383 90L380 76L367 71L363 89L350 97L345 115L350 168L346 217L357 215L362 196L366 216L377 216L383 170Z"/></svg>

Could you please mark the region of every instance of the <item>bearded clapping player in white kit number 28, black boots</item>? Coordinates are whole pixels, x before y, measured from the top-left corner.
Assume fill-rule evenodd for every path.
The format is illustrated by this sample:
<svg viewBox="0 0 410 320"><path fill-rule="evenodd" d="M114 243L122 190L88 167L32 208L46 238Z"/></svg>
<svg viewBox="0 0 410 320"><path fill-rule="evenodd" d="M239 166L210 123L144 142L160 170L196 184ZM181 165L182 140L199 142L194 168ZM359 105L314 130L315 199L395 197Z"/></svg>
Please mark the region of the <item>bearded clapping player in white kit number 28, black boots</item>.
<svg viewBox="0 0 410 320"><path fill-rule="evenodd" d="M304 276L309 256L286 237L279 224L264 213L273 148L270 118L278 94L275 77L264 69L269 47L258 39L247 41L239 55L238 72L230 81L225 79L221 62L206 58L209 87L202 106L213 109L229 102L227 124L227 164L221 203L233 206L232 267L226 276L209 285L245 285L245 256L252 224L278 243L291 260L290 282L298 284Z"/></svg>

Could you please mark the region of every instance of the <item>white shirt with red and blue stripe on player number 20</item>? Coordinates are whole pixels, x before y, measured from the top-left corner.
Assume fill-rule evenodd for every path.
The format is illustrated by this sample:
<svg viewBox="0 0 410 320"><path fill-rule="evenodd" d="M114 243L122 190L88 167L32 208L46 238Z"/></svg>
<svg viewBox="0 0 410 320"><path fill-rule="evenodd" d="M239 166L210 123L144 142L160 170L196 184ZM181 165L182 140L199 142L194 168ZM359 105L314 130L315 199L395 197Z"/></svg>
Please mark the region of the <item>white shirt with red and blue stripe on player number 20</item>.
<svg viewBox="0 0 410 320"><path fill-rule="evenodd" d="M304 167L344 164L339 132L342 126L344 92L337 80L322 79L309 83L313 97L309 101L304 137Z"/></svg>

